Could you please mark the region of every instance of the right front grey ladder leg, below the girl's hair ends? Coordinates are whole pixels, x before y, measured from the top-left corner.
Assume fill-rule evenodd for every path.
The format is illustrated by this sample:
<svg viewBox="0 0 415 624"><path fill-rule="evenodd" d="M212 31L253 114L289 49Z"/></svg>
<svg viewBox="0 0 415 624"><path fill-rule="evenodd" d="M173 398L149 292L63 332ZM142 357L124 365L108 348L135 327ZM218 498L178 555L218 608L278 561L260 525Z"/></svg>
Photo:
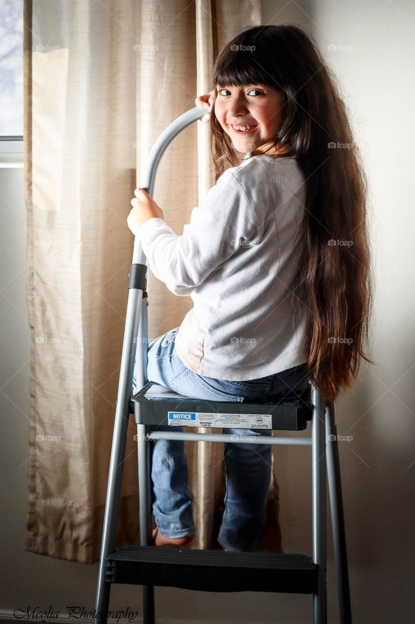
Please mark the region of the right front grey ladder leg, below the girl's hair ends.
<svg viewBox="0 0 415 624"><path fill-rule="evenodd" d="M322 395L312 386L313 560L318 565L313 624L327 624L326 443Z"/></svg>

